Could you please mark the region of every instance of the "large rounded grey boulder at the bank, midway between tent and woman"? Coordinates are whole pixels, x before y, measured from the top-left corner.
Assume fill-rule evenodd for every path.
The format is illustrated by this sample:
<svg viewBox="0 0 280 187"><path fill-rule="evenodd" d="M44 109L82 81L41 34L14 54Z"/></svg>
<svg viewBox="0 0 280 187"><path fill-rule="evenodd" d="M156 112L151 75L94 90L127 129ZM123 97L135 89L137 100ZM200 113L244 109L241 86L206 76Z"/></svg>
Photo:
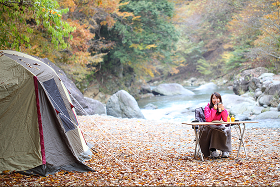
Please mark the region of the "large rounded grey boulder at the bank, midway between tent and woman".
<svg viewBox="0 0 280 187"><path fill-rule="evenodd" d="M122 118L145 118L135 98L125 90L110 96L106 103L107 115Z"/></svg>

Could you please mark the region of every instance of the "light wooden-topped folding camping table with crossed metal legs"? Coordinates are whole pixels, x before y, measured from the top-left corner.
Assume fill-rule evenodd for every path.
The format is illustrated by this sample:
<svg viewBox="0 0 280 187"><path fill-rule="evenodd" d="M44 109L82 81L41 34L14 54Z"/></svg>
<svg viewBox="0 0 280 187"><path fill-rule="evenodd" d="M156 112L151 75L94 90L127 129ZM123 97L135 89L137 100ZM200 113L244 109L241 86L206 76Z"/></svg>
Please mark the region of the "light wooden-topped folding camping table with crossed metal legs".
<svg viewBox="0 0 280 187"><path fill-rule="evenodd" d="M245 123L255 123L255 122L258 122L258 121L233 121L233 122L182 122L182 124L188 124L188 125L192 125L193 128L195 125L198 126L198 130L196 132L195 128L194 128L194 132L195 132L195 150L194 150L194 158L196 157L196 147L198 145L198 149L200 151L200 156L201 156L201 159L202 161L204 161L203 159L203 156L202 156L202 152L201 152L201 148L200 148L200 144L199 144L199 137L198 137L198 132L199 132L199 128L203 125L207 125L207 124L236 124L238 125L239 127L239 131L240 131L240 135L241 137L239 138L240 140L240 143L239 143L239 148L238 148L238 151L237 151L237 157L238 157L238 154L239 154L239 151L240 151L240 147L241 147L241 144L243 144L243 148L244 148L244 152L245 152L245 155L246 155L246 159L248 159L247 157L247 153L246 153L246 148L245 148L245 144L244 144L244 141L243 141L243 137L244 137L244 132L245 132ZM243 125L243 130L241 130L241 127L240 127L240 124Z"/></svg>

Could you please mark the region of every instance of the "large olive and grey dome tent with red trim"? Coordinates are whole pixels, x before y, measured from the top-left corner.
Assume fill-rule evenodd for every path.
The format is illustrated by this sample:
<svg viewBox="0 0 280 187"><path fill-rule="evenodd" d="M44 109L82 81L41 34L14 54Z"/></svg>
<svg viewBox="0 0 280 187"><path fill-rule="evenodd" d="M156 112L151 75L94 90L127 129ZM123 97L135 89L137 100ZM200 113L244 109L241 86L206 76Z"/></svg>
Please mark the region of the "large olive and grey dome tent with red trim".
<svg viewBox="0 0 280 187"><path fill-rule="evenodd" d="M69 92L30 55L0 50L0 173L93 171Z"/></svg>

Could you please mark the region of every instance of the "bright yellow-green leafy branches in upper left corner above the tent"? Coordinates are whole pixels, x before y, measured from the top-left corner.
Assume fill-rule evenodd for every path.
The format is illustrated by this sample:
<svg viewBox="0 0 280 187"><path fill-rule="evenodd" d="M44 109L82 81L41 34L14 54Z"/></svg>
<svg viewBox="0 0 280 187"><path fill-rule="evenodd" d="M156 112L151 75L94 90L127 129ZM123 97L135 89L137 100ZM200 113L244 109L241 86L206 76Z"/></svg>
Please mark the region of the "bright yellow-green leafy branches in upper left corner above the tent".
<svg viewBox="0 0 280 187"><path fill-rule="evenodd" d="M64 37L75 28L62 21L68 8L59 9L56 0L0 0L0 48L15 48L28 43L29 34L43 30L56 48L67 47Z"/></svg>

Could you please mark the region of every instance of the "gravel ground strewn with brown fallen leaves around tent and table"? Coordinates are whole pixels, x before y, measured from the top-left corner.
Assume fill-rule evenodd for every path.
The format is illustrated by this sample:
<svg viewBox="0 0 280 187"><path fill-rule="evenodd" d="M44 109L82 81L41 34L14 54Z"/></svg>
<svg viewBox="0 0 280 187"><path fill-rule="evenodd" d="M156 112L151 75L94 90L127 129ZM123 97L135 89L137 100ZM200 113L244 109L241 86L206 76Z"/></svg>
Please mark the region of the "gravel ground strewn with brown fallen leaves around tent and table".
<svg viewBox="0 0 280 187"><path fill-rule="evenodd" d="M85 163L96 172L60 171L47 177L0 175L0 186L279 186L277 128L248 128L239 145L231 129L229 158L194 159L194 131L185 124L105 115L78 116L94 153Z"/></svg>

